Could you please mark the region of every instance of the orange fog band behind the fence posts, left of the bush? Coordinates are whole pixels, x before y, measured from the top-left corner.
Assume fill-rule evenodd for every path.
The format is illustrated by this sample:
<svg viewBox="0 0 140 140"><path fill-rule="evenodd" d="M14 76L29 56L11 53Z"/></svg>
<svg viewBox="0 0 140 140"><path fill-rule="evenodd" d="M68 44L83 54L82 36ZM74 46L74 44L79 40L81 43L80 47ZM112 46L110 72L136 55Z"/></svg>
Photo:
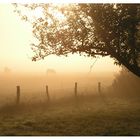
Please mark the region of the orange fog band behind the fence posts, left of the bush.
<svg viewBox="0 0 140 140"><path fill-rule="evenodd" d="M96 94L98 82L102 90L106 90L114 80L113 73L40 73L16 74L3 72L0 74L1 102L15 102L16 86L20 86L21 102L43 102L46 100L46 85L49 88L51 100L74 96L74 84L77 82L78 95Z"/></svg>

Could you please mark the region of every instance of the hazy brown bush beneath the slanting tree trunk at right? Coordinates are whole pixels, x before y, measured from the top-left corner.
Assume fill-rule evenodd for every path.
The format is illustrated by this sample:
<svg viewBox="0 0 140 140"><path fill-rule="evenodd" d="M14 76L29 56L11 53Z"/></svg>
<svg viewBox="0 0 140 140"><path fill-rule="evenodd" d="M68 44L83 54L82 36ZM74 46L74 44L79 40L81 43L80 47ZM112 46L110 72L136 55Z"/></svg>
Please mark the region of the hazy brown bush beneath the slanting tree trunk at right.
<svg viewBox="0 0 140 140"><path fill-rule="evenodd" d="M120 96L139 97L139 85L140 79L123 67L120 73L116 75L111 88L112 93L117 93Z"/></svg>

